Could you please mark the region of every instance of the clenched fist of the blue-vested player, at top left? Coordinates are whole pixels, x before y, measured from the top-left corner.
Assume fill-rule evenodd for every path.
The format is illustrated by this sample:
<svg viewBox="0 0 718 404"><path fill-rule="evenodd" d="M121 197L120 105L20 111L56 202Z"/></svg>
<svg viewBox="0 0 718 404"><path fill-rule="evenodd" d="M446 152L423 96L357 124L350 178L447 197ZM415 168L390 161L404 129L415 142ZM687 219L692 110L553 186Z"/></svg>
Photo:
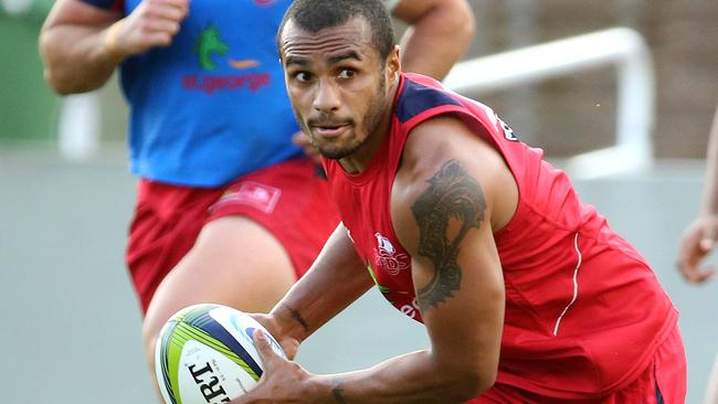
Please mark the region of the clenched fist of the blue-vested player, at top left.
<svg viewBox="0 0 718 404"><path fill-rule="evenodd" d="M123 55L135 55L155 46L168 46L189 11L189 0L142 0L118 21L113 47Z"/></svg>

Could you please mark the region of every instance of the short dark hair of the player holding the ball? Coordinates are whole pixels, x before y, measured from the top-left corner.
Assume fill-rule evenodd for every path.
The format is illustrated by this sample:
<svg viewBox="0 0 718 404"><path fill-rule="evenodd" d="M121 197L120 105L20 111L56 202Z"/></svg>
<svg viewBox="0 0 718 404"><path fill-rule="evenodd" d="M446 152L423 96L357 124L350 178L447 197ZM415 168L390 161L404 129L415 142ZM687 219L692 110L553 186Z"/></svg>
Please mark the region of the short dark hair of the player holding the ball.
<svg viewBox="0 0 718 404"><path fill-rule="evenodd" d="M371 41L382 60L397 44L397 35L389 11L381 0L295 0L284 14L277 31L277 46L282 51L282 31L287 21L310 33L339 26L352 18L362 17L371 28Z"/></svg>

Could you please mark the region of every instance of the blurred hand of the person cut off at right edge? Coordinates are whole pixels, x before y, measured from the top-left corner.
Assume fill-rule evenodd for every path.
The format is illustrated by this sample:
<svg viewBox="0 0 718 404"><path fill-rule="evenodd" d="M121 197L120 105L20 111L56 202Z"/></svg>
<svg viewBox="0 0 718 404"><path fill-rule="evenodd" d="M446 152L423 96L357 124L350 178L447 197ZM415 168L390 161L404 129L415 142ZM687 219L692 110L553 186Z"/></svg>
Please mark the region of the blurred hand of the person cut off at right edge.
<svg viewBox="0 0 718 404"><path fill-rule="evenodd" d="M701 267L703 259L712 251L718 237L718 216L700 216L686 228L678 247L677 266L686 280L704 283L710 279L714 266Z"/></svg>

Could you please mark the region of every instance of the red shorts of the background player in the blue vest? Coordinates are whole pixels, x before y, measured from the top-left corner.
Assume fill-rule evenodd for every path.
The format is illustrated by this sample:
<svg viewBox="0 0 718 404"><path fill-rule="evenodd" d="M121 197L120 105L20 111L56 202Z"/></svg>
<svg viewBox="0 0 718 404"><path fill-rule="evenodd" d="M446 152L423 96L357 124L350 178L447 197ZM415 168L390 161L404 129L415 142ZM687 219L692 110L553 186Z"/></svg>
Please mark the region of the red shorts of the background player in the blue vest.
<svg viewBox="0 0 718 404"><path fill-rule="evenodd" d="M140 180L137 194L126 263L142 312L202 226L218 217L242 215L263 225L287 251L297 277L339 223L328 183L309 159L257 170L221 188Z"/></svg>

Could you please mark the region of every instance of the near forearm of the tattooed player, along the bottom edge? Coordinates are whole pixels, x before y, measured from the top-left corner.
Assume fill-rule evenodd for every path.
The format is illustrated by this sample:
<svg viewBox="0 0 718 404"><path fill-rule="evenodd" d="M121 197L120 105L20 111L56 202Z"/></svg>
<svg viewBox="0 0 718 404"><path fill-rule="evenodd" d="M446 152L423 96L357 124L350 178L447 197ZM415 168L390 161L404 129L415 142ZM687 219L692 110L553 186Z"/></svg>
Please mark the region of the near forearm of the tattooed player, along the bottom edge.
<svg viewBox="0 0 718 404"><path fill-rule="evenodd" d="M323 403L463 403L490 389L495 372L461 360L442 364L431 352L392 358L372 369L315 376Z"/></svg>

